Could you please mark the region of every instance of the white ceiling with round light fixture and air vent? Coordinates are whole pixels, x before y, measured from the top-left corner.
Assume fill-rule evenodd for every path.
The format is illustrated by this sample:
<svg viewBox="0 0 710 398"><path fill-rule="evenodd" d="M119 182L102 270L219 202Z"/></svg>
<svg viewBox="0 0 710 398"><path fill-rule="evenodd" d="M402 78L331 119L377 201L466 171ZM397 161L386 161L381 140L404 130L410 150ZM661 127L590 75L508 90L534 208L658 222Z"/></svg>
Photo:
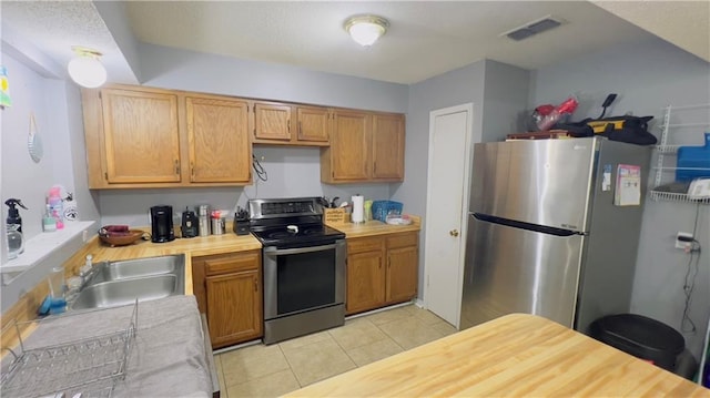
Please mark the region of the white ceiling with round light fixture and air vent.
<svg viewBox="0 0 710 398"><path fill-rule="evenodd" d="M123 6L124 24L142 42L405 84L481 59L537 69L641 40L649 31L710 62L710 1L126 1ZM0 7L3 41L9 28L12 37L31 42L61 65L71 58L71 45L95 48L104 53L110 81L126 82L132 76L91 1L3 0ZM345 19L359 13L379 14L390 22L385 37L368 49L355 44L343 30ZM565 23L520 42L500 35L545 16Z"/></svg>

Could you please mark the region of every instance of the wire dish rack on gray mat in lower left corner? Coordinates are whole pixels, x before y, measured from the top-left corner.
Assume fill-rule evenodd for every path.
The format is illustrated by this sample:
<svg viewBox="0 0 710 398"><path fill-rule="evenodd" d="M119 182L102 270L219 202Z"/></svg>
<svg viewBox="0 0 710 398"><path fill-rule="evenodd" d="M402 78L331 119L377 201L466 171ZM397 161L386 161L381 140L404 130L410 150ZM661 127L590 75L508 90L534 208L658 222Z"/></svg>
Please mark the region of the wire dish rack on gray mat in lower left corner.
<svg viewBox="0 0 710 398"><path fill-rule="evenodd" d="M0 377L2 395L44 397L63 394L72 397L81 394L82 398L111 397L116 382L126 375L126 363L138 328L138 300L133 304L125 328L60 345L26 349L21 329L26 324L41 325L43 322L14 323L19 345L14 349L6 348L13 358L7 368L3 367Z"/></svg>

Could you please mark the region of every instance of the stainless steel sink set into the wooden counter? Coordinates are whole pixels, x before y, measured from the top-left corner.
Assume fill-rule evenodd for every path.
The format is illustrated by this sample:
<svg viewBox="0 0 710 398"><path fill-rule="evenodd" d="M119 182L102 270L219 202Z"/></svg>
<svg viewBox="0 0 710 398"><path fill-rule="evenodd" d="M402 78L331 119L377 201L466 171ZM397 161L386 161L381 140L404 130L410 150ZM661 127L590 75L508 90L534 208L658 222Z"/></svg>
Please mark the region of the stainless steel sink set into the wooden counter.
<svg viewBox="0 0 710 398"><path fill-rule="evenodd" d="M71 305L72 309L115 307L182 295L185 290L183 255L104 262Z"/></svg>

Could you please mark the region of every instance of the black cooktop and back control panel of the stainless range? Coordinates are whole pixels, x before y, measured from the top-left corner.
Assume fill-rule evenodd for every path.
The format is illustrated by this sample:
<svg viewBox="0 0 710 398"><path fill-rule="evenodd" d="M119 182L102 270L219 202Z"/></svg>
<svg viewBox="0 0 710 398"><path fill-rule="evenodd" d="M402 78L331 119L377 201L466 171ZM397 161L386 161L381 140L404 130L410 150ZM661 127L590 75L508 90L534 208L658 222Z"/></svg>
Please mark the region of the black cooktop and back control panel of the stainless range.
<svg viewBox="0 0 710 398"><path fill-rule="evenodd" d="M251 200L250 229L264 246L278 248L327 245L345 234L323 225L315 197Z"/></svg>

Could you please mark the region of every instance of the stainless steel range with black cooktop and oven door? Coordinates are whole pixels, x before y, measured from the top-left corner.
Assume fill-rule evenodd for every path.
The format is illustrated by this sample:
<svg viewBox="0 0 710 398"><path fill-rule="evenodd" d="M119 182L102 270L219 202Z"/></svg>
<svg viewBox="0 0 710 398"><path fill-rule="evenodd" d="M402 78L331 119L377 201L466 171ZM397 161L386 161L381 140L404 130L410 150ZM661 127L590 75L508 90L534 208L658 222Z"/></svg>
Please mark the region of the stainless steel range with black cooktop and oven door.
<svg viewBox="0 0 710 398"><path fill-rule="evenodd" d="M323 225L316 197L251 200L263 248L264 344L345 322L345 234Z"/></svg>

